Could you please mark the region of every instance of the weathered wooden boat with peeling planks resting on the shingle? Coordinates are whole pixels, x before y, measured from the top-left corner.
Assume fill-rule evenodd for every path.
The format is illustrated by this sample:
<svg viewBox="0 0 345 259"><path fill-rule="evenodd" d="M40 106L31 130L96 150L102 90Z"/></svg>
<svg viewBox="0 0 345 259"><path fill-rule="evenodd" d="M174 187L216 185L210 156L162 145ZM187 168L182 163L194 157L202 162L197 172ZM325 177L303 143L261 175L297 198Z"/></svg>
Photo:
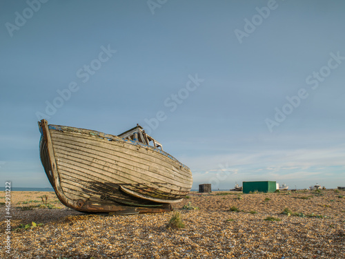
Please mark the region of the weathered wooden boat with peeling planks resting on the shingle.
<svg viewBox="0 0 345 259"><path fill-rule="evenodd" d="M170 211L192 187L190 169L137 125L118 136L39 122L41 162L59 200L77 211Z"/></svg>

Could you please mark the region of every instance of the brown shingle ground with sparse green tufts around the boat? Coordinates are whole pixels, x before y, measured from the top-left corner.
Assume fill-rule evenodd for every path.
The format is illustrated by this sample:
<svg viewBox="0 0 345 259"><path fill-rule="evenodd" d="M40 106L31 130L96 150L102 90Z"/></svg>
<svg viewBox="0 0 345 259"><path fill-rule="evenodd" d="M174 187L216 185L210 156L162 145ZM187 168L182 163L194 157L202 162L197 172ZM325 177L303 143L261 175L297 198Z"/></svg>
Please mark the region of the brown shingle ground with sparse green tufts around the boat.
<svg viewBox="0 0 345 259"><path fill-rule="evenodd" d="M0 258L345 258L345 191L191 192L172 212L115 216L66 209L55 193L12 191L10 254L4 195ZM167 229L176 211L185 227Z"/></svg>

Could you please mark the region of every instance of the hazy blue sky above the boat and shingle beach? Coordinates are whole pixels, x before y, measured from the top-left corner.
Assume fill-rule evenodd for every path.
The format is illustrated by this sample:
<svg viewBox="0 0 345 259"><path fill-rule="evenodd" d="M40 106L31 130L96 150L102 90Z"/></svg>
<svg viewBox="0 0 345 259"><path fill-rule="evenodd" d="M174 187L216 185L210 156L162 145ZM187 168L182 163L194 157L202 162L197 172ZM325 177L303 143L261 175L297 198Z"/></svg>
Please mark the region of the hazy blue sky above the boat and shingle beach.
<svg viewBox="0 0 345 259"><path fill-rule="evenodd" d="M50 186L37 121L139 123L193 189L345 186L344 1L1 1L0 175Z"/></svg>

